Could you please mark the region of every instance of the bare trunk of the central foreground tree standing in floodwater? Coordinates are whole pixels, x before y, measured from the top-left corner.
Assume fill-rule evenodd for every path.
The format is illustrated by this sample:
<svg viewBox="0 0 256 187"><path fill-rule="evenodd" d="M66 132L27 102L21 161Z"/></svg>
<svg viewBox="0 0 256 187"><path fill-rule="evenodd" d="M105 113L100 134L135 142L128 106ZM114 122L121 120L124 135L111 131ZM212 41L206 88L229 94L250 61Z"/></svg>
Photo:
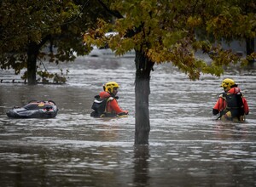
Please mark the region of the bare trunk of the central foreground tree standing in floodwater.
<svg viewBox="0 0 256 187"><path fill-rule="evenodd" d="M154 63L142 51L136 51L135 79L135 144L148 144L150 131L148 96L150 94L150 71Z"/></svg>

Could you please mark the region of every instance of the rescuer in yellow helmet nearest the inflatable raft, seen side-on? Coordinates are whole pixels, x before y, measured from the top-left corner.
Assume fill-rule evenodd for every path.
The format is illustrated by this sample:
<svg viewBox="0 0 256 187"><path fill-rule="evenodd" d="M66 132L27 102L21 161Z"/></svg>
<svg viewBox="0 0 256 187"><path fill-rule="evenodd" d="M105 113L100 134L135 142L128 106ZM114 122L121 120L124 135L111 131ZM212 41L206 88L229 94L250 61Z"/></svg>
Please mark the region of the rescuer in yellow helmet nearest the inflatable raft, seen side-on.
<svg viewBox="0 0 256 187"><path fill-rule="evenodd" d="M90 116L127 116L128 111L123 111L117 102L119 84L117 82L107 82L103 85L103 90L92 105L94 110Z"/></svg>

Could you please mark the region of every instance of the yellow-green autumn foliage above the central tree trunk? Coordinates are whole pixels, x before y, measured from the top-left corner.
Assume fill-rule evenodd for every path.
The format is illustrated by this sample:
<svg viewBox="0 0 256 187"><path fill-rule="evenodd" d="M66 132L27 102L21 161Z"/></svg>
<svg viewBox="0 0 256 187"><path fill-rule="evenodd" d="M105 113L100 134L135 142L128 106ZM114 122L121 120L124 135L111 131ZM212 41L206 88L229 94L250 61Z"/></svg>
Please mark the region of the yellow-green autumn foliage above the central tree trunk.
<svg viewBox="0 0 256 187"><path fill-rule="evenodd" d="M99 20L98 28L85 35L85 42L97 45L108 42L119 55L133 48L141 49L155 63L172 62L193 80L201 73L220 76L224 72L222 65L241 60L214 42L256 37L253 0L246 1L247 6L241 0L100 2L118 16L114 22ZM106 38L107 31L117 31L119 35ZM218 55L211 56L212 64L207 65L195 58L198 50Z"/></svg>

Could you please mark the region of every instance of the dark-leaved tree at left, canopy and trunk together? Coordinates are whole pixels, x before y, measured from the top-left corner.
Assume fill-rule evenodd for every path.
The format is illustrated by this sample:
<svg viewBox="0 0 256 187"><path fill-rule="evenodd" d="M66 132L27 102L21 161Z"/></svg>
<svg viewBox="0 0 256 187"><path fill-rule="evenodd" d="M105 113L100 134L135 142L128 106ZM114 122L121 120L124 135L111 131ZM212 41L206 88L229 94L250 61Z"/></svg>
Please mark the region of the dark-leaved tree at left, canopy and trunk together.
<svg viewBox="0 0 256 187"><path fill-rule="evenodd" d="M2 69L26 68L23 78L31 84L36 78L55 77L56 82L65 82L58 75L38 71L38 59L59 63L72 61L75 56L88 53L83 44L84 31L93 26L96 19L108 20L108 15L94 1L80 0L3 0L0 7L0 65ZM45 54L42 48L56 47L57 53Z"/></svg>

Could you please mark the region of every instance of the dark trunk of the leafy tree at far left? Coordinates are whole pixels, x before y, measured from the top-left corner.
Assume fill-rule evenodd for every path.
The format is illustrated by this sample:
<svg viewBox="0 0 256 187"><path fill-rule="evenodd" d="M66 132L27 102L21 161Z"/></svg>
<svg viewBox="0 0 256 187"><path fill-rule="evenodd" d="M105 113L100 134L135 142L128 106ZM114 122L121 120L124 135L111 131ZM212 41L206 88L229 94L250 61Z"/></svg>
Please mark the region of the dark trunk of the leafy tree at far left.
<svg viewBox="0 0 256 187"><path fill-rule="evenodd" d="M29 85L37 84L37 59L39 47L37 43L29 43L27 49L27 83Z"/></svg>

